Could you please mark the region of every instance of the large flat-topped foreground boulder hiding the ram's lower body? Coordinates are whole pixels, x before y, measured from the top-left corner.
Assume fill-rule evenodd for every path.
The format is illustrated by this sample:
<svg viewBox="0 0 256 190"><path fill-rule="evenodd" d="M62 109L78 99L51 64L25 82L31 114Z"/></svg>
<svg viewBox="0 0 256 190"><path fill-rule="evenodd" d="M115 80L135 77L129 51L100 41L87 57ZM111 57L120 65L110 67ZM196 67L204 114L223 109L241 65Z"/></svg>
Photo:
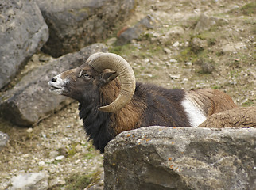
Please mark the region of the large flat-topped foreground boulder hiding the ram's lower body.
<svg viewBox="0 0 256 190"><path fill-rule="evenodd" d="M144 127L104 154L104 189L256 189L256 129Z"/></svg>

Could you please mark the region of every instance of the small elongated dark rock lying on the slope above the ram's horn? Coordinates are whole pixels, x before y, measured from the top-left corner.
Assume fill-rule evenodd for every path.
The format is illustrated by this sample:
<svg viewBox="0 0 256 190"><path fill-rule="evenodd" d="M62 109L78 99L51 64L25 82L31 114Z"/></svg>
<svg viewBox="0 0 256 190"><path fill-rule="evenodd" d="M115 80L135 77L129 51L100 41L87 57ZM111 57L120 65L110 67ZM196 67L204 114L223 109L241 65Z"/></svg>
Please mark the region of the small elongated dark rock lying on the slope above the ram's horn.
<svg viewBox="0 0 256 190"><path fill-rule="evenodd" d="M147 29L152 29L155 25L154 18L150 15L142 18L134 27L127 28L118 36L117 45L125 45L131 40L138 40Z"/></svg>

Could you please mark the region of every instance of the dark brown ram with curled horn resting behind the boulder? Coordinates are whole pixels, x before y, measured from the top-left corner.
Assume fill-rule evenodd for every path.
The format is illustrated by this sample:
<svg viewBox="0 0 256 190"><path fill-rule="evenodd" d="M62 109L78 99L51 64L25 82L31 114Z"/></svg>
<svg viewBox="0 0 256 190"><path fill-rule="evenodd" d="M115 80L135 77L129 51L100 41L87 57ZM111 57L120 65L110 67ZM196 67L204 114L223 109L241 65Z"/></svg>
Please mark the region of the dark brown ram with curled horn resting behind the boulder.
<svg viewBox="0 0 256 190"><path fill-rule="evenodd" d="M236 107L217 89L186 92L135 82L130 64L111 53L93 54L48 84L53 93L79 101L84 129L101 152L122 131L153 125L197 127L208 116Z"/></svg>

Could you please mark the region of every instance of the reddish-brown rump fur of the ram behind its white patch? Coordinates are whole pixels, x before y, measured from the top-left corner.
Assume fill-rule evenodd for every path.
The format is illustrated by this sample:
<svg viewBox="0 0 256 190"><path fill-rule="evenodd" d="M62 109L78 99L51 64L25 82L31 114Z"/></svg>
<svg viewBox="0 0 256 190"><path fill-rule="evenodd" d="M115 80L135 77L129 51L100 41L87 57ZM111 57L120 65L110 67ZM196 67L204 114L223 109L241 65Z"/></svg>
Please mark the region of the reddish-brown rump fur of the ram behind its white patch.
<svg viewBox="0 0 256 190"><path fill-rule="evenodd" d="M188 97L201 108L206 116L237 107L230 96L218 89L192 90L188 93Z"/></svg>

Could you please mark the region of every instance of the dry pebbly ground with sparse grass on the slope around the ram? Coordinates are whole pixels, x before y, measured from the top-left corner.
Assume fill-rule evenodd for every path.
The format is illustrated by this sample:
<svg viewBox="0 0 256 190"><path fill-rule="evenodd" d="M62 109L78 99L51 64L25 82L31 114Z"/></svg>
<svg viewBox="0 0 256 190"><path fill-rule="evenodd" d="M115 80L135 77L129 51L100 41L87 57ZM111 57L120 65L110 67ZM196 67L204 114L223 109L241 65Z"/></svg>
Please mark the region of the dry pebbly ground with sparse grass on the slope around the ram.
<svg viewBox="0 0 256 190"><path fill-rule="evenodd" d="M110 51L132 65L140 82L221 89L237 105L255 106L255 9L254 1L138 1L126 26L150 15L154 28L130 44L110 45ZM113 37L124 26L118 25ZM24 72L42 57L34 55ZM10 136L0 156L0 189L26 172L47 173L49 189L84 189L98 181L103 154L87 142L82 125L76 102L31 128L0 118L0 131Z"/></svg>

